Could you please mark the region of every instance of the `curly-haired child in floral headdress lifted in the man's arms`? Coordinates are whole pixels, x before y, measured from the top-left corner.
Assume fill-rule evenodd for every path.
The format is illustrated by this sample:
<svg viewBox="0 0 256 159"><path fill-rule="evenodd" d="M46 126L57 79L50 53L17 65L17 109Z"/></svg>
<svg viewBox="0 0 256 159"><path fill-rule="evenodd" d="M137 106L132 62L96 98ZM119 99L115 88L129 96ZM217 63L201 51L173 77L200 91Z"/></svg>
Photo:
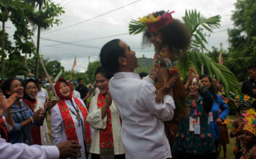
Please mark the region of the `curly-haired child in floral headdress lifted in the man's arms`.
<svg viewBox="0 0 256 159"><path fill-rule="evenodd" d="M144 16L138 21L132 21L129 24L129 30L140 24L135 31L135 34L144 31L143 43L152 43L155 47L153 58L153 69L150 73L151 77L156 77L156 102L163 101L163 96L171 87L175 101L175 116L174 120L187 115L188 106L186 103L187 92L180 80L178 73L178 57L182 56L187 51L190 44L190 32L188 28L178 19L172 18L172 13L159 11ZM175 121L172 120L172 123ZM165 122L165 133L172 146L172 141L176 134L178 124L172 125L170 122Z"/></svg>

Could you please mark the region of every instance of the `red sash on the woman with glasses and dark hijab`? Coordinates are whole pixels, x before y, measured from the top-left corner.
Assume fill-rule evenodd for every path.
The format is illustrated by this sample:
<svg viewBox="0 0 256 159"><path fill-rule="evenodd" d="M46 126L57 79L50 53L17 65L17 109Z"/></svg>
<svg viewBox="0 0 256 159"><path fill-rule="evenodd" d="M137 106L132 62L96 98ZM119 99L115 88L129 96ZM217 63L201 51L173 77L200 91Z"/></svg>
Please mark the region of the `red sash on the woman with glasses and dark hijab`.
<svg viewBox="0 0 256 159"><path fill-rule="evenodd" d="M34 113L34 108L37 104L37 99L35 100L35 102L31 102L29 100L26 99L22 99L23 103L26 104L26 106L29 107L29 109ZM40 131L40 127L34 125L33 123L30 123L30 133L31 133L31 137L32 137L32 141L33 144L35 145L42 145L41 142L41 131Z"/></svg>

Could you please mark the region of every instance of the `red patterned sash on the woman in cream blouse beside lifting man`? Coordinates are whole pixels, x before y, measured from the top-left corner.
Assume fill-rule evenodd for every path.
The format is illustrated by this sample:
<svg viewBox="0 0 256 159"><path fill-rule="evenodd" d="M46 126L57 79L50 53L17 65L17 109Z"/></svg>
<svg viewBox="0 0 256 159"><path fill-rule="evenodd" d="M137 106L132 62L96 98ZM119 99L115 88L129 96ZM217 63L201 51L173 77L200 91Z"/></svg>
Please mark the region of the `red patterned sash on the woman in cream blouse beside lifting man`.
<svg viewBox="0 0 256 159"><path fill-rule="evenodd" d="M98 95L97 106L100 109L106 101L103 94ZM107 111L106 128L100 129L100 159L114 159L114 140L110 107Z"/></svg>

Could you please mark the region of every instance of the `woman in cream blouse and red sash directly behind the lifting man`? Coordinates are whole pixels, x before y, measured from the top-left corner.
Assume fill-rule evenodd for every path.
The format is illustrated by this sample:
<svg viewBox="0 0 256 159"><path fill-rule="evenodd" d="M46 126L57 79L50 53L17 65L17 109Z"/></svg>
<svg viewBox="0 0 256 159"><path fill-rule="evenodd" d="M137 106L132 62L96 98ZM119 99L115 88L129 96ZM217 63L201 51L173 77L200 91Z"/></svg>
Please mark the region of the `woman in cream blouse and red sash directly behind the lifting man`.
<svg viewBox="0 0 256 159"><path fill-rule="evenodd" d="M121 124L115 103L109 94L109 79L113 74L102 66L95 72L96 94L90 104L87 122L94 128L90 153L92 159L125 159L121 140Z"/></svg>

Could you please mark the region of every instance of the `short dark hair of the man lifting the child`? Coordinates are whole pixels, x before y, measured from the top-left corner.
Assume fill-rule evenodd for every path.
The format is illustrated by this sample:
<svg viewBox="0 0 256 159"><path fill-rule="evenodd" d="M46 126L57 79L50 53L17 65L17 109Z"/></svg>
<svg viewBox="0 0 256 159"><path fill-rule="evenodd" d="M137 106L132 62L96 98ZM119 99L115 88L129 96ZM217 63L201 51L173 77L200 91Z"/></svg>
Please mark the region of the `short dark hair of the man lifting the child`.
<svg viewBox="0 0 256 159"><path fill-rule="evenodd" d="M112 73L119 71L119 57L125 57L125 50L119 45L120 41L109 41L100 50L101 65Z"/></svg>

